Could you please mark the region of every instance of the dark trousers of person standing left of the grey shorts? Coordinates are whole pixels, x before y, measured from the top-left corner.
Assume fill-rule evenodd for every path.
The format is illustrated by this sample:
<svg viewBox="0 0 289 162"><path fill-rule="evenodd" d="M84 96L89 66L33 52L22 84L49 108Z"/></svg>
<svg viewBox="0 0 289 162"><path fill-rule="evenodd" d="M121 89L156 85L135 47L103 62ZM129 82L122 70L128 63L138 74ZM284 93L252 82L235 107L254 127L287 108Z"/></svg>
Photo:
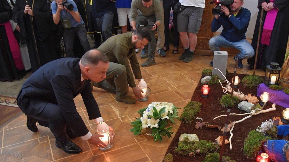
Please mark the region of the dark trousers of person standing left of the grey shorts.
<svg viewBox="0 0 289 162"><path fill-rule="evenodd" d="M168 25L170 23L170 14L171 8L174 8L178 1L175 0L163 0L164 7L164 36L165 42L164 47L169 46L170 42L170 30L168 29ZM173 13L173 22L174 22L174 31L173 31L173 45L174 47L179 47L179 32L177 29L177 13Z"/></svg>

